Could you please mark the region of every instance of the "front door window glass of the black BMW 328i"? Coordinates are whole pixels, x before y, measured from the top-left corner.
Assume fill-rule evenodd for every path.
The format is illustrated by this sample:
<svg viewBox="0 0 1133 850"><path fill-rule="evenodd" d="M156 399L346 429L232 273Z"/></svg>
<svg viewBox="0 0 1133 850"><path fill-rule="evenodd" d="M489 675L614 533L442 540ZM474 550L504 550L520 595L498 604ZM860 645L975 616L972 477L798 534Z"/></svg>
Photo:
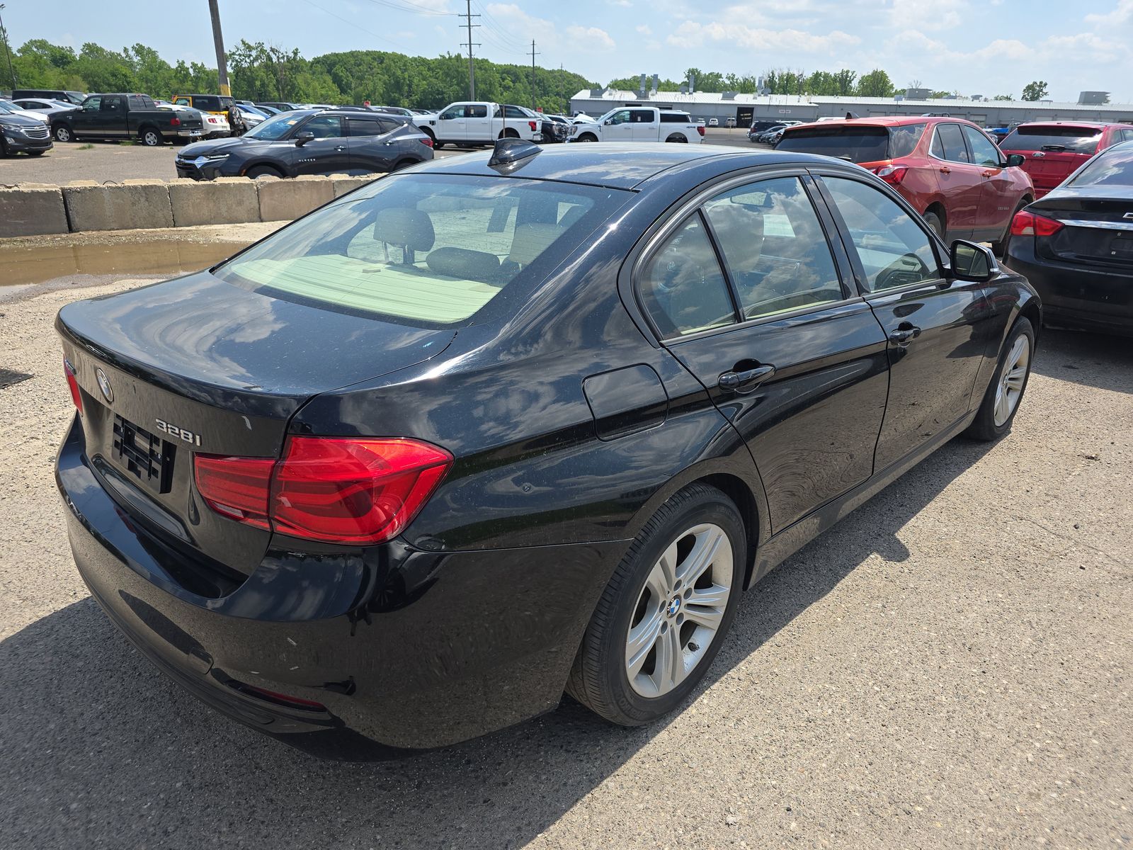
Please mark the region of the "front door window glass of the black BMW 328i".
<svg viewBox="0 0 1133 850"><path fill-rule="evenodd" d="M896 202L858 180L824 177L823 182L858 253L867 292L939 280L931 239Z"/></svg>

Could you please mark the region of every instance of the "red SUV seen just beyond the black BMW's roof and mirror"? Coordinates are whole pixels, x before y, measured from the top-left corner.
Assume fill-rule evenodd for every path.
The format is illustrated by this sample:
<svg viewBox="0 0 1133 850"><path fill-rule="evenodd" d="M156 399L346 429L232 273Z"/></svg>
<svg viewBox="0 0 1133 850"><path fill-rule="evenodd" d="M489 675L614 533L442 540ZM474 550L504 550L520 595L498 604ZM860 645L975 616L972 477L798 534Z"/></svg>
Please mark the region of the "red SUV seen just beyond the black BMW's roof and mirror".
<svg viewBox="0 0 1133 850"><path fill-rule="evenodd" d="M789 127L775 146L857 162L904 195L946 241L1000 252L1015 212L1034 199L1022 156L962 118L852 118Z"/></svg>

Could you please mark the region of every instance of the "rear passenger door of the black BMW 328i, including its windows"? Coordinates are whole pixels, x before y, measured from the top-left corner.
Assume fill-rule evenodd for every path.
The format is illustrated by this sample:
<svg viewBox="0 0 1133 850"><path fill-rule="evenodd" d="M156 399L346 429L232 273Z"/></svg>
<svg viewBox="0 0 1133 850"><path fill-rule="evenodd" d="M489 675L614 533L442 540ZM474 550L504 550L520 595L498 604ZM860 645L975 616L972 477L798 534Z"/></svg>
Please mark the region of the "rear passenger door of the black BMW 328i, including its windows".
<svg viewBox="0 0 1133 850"><path fill-rule="evenodd" d="M801 176L743 182L688 214L638 280L664 345L751 450L776 533L869 478L885 414L885 335L826 224Z"/></svg>

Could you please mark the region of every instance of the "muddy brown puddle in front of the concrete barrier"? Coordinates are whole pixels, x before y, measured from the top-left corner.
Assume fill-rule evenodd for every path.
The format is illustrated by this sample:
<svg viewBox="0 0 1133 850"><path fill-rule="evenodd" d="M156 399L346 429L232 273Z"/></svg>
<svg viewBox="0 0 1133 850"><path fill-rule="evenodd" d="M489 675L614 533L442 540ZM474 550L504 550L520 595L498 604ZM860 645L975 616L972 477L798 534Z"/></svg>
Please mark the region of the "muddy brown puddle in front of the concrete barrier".
<svg viewBox="0 0 1133 850"><path fill-rule="evenodd" d="M188 274L215 265L241 243L147 241L110 245L0 246L0 287L44 283L68 274Z"/></svg>

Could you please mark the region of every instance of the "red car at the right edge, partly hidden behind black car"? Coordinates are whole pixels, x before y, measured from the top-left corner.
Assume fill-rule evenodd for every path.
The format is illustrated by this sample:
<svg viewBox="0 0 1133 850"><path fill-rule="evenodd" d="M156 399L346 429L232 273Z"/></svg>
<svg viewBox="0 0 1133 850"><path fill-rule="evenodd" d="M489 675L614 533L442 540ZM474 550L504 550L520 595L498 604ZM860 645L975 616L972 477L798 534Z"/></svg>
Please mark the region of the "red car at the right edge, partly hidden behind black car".
<svg viewBox="0 0 1133 850"><path fill-rule="evenodd" d="M1098 151L1119 142L1133 142L1133 127L1089 121L1033 121L1019 125L999 147L1026 158L1023 170L1034 182L1034 197L1040 198Z"/></svg>

